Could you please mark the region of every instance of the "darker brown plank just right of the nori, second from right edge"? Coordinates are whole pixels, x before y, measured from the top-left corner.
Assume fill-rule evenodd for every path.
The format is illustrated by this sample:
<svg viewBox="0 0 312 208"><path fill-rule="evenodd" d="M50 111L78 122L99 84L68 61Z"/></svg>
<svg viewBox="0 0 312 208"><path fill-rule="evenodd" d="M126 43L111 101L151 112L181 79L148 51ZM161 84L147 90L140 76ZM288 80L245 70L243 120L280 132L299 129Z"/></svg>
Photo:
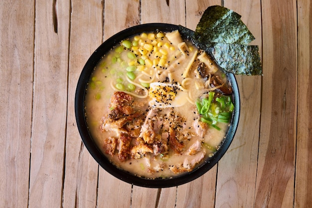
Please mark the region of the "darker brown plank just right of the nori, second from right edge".
<svg viewBox="0 0 312 208"><path fill-rule="evenodd" d="M255 207L294 203L297 118L296 0L262 0L263 98Z"/></svg>

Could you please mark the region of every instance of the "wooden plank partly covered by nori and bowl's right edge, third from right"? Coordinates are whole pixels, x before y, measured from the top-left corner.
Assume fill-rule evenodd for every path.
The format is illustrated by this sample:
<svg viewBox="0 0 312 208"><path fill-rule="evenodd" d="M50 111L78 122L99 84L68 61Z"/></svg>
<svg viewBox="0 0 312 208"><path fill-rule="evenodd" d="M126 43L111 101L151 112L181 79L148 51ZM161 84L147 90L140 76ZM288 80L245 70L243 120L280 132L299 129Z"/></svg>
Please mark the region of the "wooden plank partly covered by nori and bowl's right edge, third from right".
<svg viewBox="0 0 312 208"><path fill-rule="evenodd" d="M242 21L256 37L251 44L259 45L261 54L260 0L225 1L224 6L242 15ZM261 76L236 76L241 114L234 140L218 165L216 208L252 207L257 173ZM250 129L252 131L245 131Z"/></svg>

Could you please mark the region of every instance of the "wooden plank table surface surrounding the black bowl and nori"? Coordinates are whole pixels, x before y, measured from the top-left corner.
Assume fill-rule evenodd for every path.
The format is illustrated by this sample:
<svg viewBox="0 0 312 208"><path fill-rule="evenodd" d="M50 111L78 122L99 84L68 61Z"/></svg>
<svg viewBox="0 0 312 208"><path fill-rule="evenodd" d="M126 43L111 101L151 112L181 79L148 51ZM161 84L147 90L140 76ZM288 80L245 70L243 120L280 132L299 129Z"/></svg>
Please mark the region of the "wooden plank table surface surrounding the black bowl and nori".
<svg viewBox="0 0 312 208"><path fill-rule="evenodd" d="M236 76L241 116L224 157L202 177L149 189L104 171L75 121L91 53L127 27L195 29L209 5L242 15L263 76ZM310 0L1 0L0 208L311 208Z"/></svg>

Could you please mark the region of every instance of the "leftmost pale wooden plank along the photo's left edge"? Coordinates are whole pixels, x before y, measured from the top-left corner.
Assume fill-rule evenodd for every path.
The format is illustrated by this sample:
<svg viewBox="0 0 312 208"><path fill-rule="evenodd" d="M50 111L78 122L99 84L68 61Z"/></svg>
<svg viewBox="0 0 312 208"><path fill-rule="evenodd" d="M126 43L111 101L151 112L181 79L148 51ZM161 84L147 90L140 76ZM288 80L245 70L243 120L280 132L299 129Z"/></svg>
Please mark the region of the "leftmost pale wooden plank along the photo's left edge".
<svg viewBox="0 0 312 208"><path fill-rule="evenodd" d="M0 207L27 208L34 1L0 1Z"/></svg>

